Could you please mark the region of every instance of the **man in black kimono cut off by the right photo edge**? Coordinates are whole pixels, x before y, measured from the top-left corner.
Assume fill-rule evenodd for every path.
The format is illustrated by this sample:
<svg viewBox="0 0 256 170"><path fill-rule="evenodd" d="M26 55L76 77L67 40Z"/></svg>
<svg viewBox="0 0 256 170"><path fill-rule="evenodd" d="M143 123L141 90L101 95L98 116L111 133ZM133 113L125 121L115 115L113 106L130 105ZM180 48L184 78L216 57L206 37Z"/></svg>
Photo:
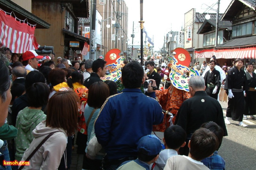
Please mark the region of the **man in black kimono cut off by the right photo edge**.
<svg viewBox="0 0 256 170"><path fill-rule="evenodd" d="M256 119L256 74L253 72L253 65L251 62L246 63L245 76L248 82L249 89L245 91L245 108L244 119L247 119L246 115L250 115L249 118Z"/></svg>

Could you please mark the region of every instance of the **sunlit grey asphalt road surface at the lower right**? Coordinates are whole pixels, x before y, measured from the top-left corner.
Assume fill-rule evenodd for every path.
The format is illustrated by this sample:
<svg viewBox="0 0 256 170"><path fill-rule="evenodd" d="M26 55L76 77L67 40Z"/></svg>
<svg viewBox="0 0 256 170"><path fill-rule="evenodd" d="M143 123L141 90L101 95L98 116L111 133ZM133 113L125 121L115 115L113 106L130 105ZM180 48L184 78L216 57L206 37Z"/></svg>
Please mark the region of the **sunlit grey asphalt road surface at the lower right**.
<svg viewBox="0 0 256 170"><path fill-rule="evenodd" d="M227 103L220 102L223 115L226 115ZM226 162L226 170L256 170L256 119L244 120L247 128L238 126L237 121L230 120L226 125L228 136L225 136L218 154ZM162 132L156 132L163 138Z"/></svg>

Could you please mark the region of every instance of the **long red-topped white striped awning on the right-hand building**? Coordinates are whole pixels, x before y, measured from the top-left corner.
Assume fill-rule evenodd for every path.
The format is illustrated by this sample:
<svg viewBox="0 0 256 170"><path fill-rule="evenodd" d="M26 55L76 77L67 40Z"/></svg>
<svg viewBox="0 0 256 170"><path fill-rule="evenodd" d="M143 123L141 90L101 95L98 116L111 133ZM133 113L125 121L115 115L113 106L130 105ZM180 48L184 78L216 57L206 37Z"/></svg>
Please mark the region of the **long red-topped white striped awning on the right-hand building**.
<svg viewBox="0 0 256 170"><path fill-rule="evenodd" d="M218 58L256 58L256 47L236 48L236 49L207 49L195 51L196 58L211 58L212 55Z"/></svg>

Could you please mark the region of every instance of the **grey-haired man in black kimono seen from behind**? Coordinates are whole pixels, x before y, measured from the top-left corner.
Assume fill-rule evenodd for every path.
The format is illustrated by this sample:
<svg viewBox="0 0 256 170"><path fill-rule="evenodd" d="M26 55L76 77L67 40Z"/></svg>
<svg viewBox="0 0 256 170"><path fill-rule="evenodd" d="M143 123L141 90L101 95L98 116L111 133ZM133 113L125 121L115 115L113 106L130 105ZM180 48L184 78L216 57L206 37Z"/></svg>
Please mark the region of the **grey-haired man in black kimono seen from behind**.
<svg viewBox="0 0 256 170"><path fill-rule="evenodd" d="M204 78L201 76L191 77L188 86L192 97L182 103L174 123L180 125L187 132L186 143L188 144L193 132L208 121L217 123L223 128L224 136L227 136L221 104L204 92ZM179 150L180 155L188 155L187 144Z"/></svg>

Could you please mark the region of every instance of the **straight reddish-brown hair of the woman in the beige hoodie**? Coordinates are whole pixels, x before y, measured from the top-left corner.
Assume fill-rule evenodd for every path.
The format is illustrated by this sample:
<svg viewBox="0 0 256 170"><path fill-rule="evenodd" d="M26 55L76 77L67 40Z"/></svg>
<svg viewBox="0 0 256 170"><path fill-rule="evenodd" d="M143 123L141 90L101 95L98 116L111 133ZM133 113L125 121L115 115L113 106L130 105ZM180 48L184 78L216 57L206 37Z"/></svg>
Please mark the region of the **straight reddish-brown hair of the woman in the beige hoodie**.
<svg viewBox="0 0 256 170"><path fill-rule="evenodd" d="M68 136L74 134L78 122L78 103L79 97L72 90L55 93L48 102L46 126L62 128Z"/></svg>

